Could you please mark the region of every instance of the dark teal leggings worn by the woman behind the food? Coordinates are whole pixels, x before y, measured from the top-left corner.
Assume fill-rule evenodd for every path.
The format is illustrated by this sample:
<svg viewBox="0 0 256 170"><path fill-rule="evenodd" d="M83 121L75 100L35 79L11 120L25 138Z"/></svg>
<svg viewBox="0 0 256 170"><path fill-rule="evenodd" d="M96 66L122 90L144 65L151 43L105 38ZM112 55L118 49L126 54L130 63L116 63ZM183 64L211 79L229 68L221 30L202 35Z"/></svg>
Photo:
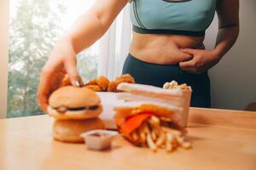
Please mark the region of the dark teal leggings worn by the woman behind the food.
<svg viewBox="0 0 256 170"><path fill-rule="evenodd" d="M191 106L211 107L210 80L207 72L193 74L182 71L179 65L156 65L136 59L131 54L125 59L123 74L129 73L137 83L162 88L165 82L172 80L187 83L193 89Z"/></svg>

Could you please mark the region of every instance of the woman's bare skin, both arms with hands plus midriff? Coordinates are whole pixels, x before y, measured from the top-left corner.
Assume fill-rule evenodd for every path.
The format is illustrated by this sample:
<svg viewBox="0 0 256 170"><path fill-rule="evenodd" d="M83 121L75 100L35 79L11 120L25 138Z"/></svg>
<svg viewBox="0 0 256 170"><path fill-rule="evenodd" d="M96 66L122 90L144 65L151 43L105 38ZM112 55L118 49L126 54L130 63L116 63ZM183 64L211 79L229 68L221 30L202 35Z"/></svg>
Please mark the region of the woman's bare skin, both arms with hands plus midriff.
<svg viewBox="0 0 256 170"><path fill-rule="evenodd" d="M38 104L43 111L47 109L49 95L65 74L69 75L73 86L82 83L77 70L76 54L84 48L89 48L108 31L126 3L128 0L97 0L89 11L75 21L67 34L56 42L44 65L38 85ZM218 0L217 13L219 30L216 46L212 50L204 48L204 37L133 32L130 53L137 59L150 63L178 63L183 71L196 74L207 71L216 65L236 42L239 33L239 0Z"/></svg>

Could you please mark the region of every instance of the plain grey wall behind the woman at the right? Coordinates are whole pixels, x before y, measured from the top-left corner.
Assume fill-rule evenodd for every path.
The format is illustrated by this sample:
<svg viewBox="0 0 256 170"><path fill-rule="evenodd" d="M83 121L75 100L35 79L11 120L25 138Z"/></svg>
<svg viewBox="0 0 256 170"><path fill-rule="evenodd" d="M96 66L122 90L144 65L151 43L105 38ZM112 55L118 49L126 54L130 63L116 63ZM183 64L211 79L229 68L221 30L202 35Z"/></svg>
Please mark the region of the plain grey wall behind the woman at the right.
<svg viewBox="0 0 256 170"><path fill-rule="evenodd" d="M256 1L240 1L241 31L235 46L210 71L212 107L244 110L256 102ZM215 17L205 44L214 47L218 31Z"/></svg>

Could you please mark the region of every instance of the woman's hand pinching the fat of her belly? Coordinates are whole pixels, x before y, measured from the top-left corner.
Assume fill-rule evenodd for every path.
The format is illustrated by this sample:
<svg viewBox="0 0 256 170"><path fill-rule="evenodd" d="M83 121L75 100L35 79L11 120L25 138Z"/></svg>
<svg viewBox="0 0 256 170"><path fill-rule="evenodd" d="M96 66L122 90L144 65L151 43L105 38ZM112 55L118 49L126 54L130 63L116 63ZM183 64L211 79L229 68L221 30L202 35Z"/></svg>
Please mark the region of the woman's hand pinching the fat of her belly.
<svg viewBox="0 0 256 170"><path fill-rule="evenodd" d="M183 53L193 56L188 61L179 62L179 66L183 71L188 71L195 74L200 74L212 68L219 61L219 57L214 51L208 51L205 49L181 49Z"/></svg>

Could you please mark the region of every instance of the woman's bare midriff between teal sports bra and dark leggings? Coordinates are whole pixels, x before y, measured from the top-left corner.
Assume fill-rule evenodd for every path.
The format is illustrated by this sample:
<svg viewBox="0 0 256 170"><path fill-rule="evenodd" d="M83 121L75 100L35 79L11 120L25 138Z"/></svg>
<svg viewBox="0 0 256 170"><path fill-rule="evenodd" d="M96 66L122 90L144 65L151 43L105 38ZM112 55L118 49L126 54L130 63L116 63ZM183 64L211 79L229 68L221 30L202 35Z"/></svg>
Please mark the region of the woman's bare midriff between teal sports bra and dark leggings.
<svg viewBox="0 0 256 170"><path fill-rule="evenodd" d="M148 63L175 65L192 58L180 48L204 48L203 41L204 37L133 32L130 54Z"/></svg>

